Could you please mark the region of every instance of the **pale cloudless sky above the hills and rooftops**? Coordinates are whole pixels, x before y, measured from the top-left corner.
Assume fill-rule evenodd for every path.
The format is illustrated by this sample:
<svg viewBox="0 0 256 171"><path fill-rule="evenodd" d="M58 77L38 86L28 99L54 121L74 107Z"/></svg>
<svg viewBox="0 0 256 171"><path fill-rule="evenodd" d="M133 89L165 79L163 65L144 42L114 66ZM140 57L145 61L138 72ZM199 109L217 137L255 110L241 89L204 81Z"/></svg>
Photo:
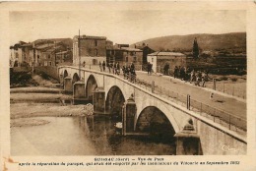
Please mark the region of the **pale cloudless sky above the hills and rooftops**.
<svg viewBox="0 0 256 171"><path fill-rule="evenodd" d="M12 11L9 28L10 44L20 40L73 38L79 29L81 34L132 44L165 35L246 31L246 11Z"/></svg>

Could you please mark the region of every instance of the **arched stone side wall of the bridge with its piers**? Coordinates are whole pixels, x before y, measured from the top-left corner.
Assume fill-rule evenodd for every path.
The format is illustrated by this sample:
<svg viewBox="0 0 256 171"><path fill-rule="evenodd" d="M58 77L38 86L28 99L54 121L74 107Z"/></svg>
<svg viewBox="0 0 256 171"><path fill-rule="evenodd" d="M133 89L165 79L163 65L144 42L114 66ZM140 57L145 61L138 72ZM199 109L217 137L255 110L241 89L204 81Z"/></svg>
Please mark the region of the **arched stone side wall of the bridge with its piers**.
<svg viewBox="0 0 256 171"><path fill-rule="evenodd" d="M246 154L246 138L120 76L73 66L58 68L74 102L122 122L124 136L175 137L176 154Z"/></svg>

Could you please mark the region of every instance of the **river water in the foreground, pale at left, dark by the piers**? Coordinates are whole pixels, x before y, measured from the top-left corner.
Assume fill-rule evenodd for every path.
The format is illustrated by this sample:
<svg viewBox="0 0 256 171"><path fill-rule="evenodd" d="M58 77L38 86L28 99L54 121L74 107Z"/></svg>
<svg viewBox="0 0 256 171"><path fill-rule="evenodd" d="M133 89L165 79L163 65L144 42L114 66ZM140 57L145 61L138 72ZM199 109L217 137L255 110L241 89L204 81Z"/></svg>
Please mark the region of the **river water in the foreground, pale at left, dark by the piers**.
<svg viewBox="0 0 256 171"><path fill-rule="evenodd" d="M11 128L12 155L173 155L175 143L122 137L109 116L33 117L48 124Z"/></svg>

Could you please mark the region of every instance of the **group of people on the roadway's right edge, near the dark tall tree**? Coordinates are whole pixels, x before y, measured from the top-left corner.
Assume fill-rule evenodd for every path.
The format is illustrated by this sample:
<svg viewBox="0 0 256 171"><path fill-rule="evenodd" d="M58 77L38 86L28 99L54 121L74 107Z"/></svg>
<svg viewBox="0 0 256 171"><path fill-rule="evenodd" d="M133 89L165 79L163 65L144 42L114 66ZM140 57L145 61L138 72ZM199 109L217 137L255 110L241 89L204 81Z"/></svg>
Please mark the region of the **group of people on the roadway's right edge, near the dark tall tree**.
<svg viewBox="0 0 256 171"><path fill-rule="evenodd" d="M205 86L205 83L209 80L208 72L206 71L195 71L191 70L190 68L185 67L177 67L174 68L174 79L181 79L191 84L194 83L195 85Z"/></svg>

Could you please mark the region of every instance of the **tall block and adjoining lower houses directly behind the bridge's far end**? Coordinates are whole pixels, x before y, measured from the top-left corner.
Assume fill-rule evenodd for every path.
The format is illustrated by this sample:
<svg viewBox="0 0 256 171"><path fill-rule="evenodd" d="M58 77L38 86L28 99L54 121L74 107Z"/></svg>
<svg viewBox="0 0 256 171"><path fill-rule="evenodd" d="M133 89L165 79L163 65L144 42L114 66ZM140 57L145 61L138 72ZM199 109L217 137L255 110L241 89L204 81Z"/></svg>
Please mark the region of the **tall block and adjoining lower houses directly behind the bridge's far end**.
<svg viewBox="0 0 256 171"><path fill-rule="evenodd" d="M113 44L104 36L76 35L73 38L73 64L97 65L103 61L118 62L120 65L147 64L147 55L155 52L148 45L140 48L129 44Z"/></svg>

